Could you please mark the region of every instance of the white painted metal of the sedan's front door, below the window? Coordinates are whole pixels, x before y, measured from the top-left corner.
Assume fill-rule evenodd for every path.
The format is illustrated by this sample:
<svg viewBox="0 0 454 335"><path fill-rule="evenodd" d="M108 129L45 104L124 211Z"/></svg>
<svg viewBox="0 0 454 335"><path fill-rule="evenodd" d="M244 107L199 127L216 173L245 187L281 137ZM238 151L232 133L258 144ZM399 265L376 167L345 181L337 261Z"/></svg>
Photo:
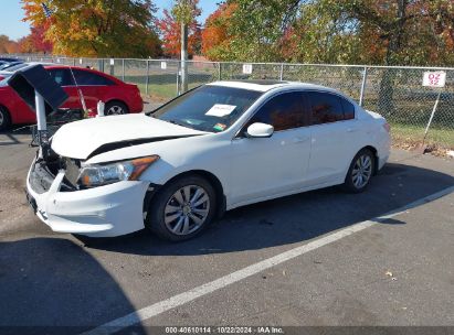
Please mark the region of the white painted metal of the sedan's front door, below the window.
<svg viewBox="0 0 454 335"><path fill-rule="evenodd" d="M240 204L300 190L305 183L309 156L308 127L277 131L268 139L233 140L231 165L235 181L232 181L229 203Z"/></svg>

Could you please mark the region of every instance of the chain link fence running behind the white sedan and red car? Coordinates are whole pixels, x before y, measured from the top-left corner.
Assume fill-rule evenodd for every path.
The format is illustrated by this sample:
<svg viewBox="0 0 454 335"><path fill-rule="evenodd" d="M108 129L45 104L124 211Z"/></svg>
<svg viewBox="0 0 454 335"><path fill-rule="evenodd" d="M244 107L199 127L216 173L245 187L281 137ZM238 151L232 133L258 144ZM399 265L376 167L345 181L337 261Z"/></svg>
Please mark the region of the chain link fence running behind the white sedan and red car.
<svg viewBox="0 0 454 335"><path fill-rule="evenodd" d="M28 62L93 67L138 85L152 104L163 104L181 93L181 66L176 60L19 57ZM427 71L446 72L445 87L423 87L423 74ZM229 79L295 80L329 86L384 116L394 142L415 145L425 141L454 149L454 68L281 63L254 63L244 67L243 63L188 62L189 89ZM440 101L429 125L437 98Z"/></svg>

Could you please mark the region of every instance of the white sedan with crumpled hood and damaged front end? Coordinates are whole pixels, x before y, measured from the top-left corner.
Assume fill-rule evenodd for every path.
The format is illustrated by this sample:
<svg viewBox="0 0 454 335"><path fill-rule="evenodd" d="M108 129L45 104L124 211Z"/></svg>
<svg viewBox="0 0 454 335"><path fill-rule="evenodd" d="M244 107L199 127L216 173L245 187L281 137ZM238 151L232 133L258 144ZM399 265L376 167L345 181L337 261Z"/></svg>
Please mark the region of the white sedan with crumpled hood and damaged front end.
<svg viewBox="0 0 454 335"><path fill-rule="evenodd" d="M54 231L146 227L184 240L239 206L339 184L362 192L389 152L387 121L337 90L218 82L150 115L63 126L30 168L28 197Z"/></svg>

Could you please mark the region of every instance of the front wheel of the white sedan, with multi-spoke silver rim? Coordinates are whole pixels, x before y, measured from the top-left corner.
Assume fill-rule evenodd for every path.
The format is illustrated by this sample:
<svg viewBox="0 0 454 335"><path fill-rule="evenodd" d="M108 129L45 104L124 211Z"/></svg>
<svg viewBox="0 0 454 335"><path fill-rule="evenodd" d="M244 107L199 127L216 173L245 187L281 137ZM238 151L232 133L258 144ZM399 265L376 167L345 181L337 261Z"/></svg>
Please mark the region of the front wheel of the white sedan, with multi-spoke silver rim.
<svg viewBox="0 0 454 335"><path fill-rule="evenodd" d="M213 186L201 176L183 176L152 196L145 225L162 239L182 241L209 226L215 208Z"/></svg>

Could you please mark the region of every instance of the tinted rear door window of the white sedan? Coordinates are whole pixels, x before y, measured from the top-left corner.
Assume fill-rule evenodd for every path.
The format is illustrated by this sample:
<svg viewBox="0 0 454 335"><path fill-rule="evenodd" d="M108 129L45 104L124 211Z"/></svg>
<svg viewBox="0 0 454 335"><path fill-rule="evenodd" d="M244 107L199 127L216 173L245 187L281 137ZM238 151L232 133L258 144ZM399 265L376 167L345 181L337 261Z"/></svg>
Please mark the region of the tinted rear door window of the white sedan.
<svg viewBox="0 0 454 335"><path fill-rule="evenodd" d="M329 123L344 120L344 109L338 96L309 91L307 97L310 106L312 125Z"/></svg>

